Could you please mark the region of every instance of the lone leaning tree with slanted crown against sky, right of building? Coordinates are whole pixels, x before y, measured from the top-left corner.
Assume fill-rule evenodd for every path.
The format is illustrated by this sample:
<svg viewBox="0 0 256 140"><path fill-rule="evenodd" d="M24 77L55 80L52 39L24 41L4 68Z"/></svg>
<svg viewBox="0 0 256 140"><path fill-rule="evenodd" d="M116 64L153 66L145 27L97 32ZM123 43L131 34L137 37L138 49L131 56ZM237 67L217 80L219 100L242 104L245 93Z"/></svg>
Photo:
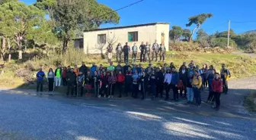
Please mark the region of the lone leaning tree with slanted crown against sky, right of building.
<svg viewBox="0 0 256 140"><path fill-rule="evenodd" d="M188 18L188 23L186 24L186 26L191 26L192 24L196 24L196 27L194 27L194 30L192 30L189 41L193 39L194 32L200 28L200 26L206 21L207 18L210 18L210 17L213 17L213 14L203 13L203 14L199 14L197 16Z"/></svg>

